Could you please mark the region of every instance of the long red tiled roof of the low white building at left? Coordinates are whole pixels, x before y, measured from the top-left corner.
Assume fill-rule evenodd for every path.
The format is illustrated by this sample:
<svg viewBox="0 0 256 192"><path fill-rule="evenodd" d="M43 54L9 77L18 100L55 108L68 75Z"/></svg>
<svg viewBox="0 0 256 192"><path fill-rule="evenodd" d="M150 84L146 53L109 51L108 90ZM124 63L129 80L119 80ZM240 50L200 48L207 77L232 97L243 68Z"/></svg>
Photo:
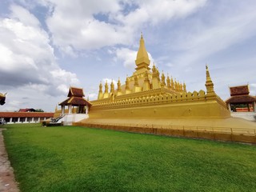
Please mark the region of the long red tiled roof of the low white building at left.
<svg viewBox="0 0 256 192"><path fill-rule="evenodd" d="M45 112L0 112L0 118L53 118L54 113Z"/></svg>

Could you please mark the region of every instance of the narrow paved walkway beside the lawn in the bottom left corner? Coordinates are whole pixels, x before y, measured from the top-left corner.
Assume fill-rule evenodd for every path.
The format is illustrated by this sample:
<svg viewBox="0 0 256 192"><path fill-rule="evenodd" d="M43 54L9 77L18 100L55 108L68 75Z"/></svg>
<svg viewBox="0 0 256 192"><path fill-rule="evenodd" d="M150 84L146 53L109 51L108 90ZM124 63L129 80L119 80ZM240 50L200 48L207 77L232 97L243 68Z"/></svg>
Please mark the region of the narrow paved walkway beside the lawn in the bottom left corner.
<svg viewBox="0 0 256 192"><path fill-rule="evenodd" d="M14 172L3 142L2 130L0 128L0 192L18 192L18 185L14 182Z"/></svg>

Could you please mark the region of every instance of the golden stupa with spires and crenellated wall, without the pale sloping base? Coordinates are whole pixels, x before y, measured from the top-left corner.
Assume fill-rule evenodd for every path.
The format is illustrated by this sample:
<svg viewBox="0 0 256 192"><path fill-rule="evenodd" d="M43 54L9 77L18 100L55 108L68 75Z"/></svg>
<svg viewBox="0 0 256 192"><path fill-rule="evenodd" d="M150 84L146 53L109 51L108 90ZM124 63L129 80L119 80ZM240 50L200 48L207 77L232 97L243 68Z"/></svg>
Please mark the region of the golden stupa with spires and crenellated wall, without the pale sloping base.
<svg viewBox="0 0 256 192"><path fill-rule="evenodd" d="M187 92L186 84L169 74L160 74L146 51L141 35L135 71L126 81L118 79L110 87L99 85L98 99L91 101L90 119L152 119L152 118L228 118L226 103L214 92L208 66L206 66L206 92ZM110 88L110 89L109 89ZM110 120L108 120L110 121Z"/></svg>

